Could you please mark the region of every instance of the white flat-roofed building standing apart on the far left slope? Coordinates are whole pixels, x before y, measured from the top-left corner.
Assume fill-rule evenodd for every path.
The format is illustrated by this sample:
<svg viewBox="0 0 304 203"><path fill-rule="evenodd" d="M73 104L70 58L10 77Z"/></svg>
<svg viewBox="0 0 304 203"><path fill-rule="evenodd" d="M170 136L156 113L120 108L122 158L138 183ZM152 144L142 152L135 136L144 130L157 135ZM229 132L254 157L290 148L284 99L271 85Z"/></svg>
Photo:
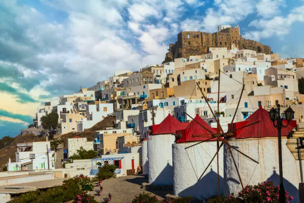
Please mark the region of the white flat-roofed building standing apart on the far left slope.
<svg viewBox="0 0 304 203"><path fill-rule="evenodd" d="M7 171L30 171L55 169L55 152L51 151L51 143L28 142L16 145L16 162L6 164Z"/></svg>

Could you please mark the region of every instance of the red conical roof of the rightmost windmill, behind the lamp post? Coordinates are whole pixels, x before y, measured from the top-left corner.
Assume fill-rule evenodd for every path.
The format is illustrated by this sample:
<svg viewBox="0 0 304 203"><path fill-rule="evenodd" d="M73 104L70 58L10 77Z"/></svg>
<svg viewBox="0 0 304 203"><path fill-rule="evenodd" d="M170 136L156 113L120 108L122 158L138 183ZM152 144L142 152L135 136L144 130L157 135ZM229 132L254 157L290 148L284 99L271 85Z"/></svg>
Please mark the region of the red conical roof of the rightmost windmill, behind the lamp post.
<svg viewBox="0 0 304 203"><path fill-rule="evenodd" d="M234 131L234 135L236 138L262 138L262 137L277 137L278 130L276 127L273 126L273 122L271 121L268 111L259 106L252 115L250 115L246 120L241 122L236 122L228 124L228 128L237 129L242 126L254 123L256 121L260 121L256 124L250 125L248 127L244 127L240 130ZM283 124L287 124L287 120L283 120ZM234 126L233 126L234 125ZM295 120L290 121L287 127L283 127L281 134L282 136L287 136L289 132L296 127L297 122Z"/></svg>

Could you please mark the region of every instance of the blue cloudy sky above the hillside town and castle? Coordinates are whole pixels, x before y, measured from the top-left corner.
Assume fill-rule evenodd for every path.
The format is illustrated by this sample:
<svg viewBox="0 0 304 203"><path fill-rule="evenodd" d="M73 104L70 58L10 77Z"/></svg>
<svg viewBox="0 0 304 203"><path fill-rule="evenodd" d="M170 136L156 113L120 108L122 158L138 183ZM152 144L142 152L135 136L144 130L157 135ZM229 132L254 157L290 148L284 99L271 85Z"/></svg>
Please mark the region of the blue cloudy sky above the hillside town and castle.
<svg viewBox="0 0 304 203"><path fill-rule="evenodd" d="M0 0L0 137L53 97L160 64L177 33L221 24L304 57L304 0Z"/></svg>

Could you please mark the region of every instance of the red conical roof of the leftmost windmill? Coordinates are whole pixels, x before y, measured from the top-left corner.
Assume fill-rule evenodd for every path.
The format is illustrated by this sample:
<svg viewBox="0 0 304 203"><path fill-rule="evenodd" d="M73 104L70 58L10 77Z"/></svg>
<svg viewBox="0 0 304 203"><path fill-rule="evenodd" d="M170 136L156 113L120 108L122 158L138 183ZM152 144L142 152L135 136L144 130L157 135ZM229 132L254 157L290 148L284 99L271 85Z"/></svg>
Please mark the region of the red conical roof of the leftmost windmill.
<svg viewBox="0 0 304 203"><path fill-rule="evenodd" d="M152 131L152 134L158 135L175 133L176 130L184 128L187 124L188 123L179 122L169 113L168 116L158 124L158 127L152 126L152 129L156 128L154 131Z"/></svg>

